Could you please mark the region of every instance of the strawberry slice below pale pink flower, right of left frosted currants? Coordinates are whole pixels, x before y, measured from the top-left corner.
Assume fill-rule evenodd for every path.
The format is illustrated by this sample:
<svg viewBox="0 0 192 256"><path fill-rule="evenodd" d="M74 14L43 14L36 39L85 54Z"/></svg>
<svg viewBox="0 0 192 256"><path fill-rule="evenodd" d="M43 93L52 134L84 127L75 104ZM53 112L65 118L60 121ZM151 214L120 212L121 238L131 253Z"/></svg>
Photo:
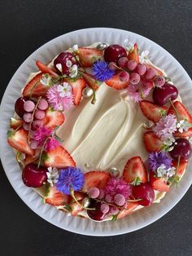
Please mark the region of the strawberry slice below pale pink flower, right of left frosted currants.
<svg viewBox="0 0 192 256"><path fill-rule="evenodd" d="M46 117L43 118L42 124L46 126L46 128L55 129L56 126L61 126L64 121L64 114L55 111L51 108L46 110Z"/></svg>

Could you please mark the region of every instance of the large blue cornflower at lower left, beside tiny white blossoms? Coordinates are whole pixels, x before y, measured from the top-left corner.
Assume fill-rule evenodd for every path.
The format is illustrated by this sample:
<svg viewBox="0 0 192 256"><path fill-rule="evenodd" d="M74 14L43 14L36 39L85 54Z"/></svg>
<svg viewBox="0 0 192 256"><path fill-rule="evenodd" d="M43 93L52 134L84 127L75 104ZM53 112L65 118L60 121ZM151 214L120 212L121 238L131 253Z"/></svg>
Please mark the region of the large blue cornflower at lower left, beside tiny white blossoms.
<svg viewBox="0 0 192 256"><path fill-rule="evenodd" d="M74 191L80 190L84 184L84 174L76 167L68 167L60 170L59 181L56 187L59 192L71 195L70 188Z"/></svg>

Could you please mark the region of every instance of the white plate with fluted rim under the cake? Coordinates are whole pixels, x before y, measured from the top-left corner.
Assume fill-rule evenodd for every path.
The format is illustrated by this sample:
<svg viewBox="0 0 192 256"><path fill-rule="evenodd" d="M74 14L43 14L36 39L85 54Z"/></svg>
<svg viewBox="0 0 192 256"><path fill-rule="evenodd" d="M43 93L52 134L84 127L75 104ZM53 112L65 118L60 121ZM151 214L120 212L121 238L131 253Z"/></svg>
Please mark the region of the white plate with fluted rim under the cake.
<svg viewBox="0 0 192 256"><path fill-rule="evenodd" d="M76 43L79 46L88 46L94 42L118 43L123 45L124 39L126 38L129 38L132 42L137 42L137 45L141 47L141 51L150 51L152 62L160 68L165 69L168 77L171 77L174 84L177 85L185 106L192 112L192 83L190 77L185 72L185 69L181 67L181 64L168 51L165 51L155 42L143 38L136 33L107 28L77 30L64 34L41 46L21 64L20 68L18 68L12 77L2 98L0 108L0 153L2 166L11 185L25 204L41 216L41 218L45 218L55 226L70 232L89 236L114 236L146 227L168 213L181 200L181 197L184 196L192 183L192 172L190 171L192 166L190 162L178 188L171 188L170 192L168 192L160 204L154 204L151 207L138 210L115 223L95 223L89 219L68 216L50 205L43 205L41 197L32 188L25 187L22 182L20 167L15 161L11 147L7 144L6 134L9 129L9 119L14 113L15 100L20 97L20 90L24 86L29 73L37 70L35 61L41 60L42 63L48 63L59 52L68 49L69 46Z"/></svg>

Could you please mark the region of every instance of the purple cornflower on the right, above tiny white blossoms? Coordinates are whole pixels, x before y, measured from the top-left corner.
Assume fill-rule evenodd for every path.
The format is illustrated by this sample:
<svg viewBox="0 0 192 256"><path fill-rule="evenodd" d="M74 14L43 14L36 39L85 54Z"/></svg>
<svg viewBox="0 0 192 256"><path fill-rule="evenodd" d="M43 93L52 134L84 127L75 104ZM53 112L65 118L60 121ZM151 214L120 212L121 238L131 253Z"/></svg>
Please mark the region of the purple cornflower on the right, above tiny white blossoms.
<svg viewBox="0 0 192 256"><path fill-rule="evenodd" d="M149 166L150 169L154 172L159 168L159 166L164 165L168 170L172 165L172 159L168 157L166 152L151 152L149 157Z"/></svg>

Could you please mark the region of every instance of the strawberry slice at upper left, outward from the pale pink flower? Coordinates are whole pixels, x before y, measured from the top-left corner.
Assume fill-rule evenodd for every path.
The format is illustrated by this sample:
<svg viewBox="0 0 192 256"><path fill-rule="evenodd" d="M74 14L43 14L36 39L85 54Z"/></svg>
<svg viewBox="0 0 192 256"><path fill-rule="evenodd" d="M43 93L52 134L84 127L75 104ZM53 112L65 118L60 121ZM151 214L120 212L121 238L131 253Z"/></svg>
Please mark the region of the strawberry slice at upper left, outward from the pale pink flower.
<svg viewBox="0 0 192 256"><path fill-rule="evenodd" d="M46 96L47 90L50 88L49 86L42 85L40 80L42 77L42 73L38 73L31 81L28 82L26 86L24 86L23 95L24 97L44 97Z"/></svg>

